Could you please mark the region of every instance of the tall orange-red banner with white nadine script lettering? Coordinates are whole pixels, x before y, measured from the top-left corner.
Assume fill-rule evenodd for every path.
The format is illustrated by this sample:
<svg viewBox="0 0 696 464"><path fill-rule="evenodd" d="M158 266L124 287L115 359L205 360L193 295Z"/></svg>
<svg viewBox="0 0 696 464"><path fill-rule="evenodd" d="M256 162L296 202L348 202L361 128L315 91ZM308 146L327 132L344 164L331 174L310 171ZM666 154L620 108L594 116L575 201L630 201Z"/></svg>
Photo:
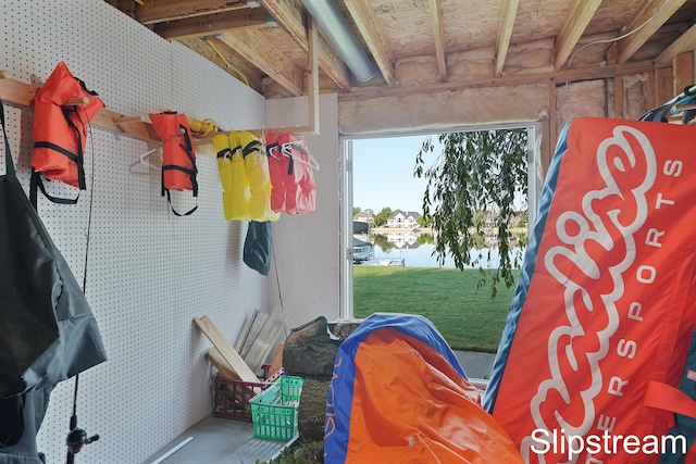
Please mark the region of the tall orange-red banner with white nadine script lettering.
<svg viewBox="0 0 696 464"><path fill-rule="evenodd" d="M573 121L539 204L486 406L527 463L681 450L644 402L696 322L696 127Z"/></svg>

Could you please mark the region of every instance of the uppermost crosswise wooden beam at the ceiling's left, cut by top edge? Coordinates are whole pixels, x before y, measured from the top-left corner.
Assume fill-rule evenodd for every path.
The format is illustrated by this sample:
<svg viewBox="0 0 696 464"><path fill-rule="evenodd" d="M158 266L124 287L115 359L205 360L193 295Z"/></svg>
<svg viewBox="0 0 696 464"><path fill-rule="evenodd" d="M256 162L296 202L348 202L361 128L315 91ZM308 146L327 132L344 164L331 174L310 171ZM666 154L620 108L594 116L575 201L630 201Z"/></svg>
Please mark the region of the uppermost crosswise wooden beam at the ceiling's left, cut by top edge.
<svg viewBox="0 0 696 464"><path fill-rule="evenodd" d="M154 24L248 8L247 0L148 0L137 5L135 11L140 23Z"/></svg>

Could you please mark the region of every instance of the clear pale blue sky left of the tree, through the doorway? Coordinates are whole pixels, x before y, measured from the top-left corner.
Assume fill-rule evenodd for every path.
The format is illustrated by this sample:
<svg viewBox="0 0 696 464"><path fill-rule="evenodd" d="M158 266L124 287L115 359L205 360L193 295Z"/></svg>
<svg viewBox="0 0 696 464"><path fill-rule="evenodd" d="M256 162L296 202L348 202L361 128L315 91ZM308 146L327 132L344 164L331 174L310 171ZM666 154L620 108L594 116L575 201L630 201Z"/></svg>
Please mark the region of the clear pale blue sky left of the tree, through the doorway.
<svg viewBox="0 0 696 464"><path fill-rule="evenodd" d="M424 135L394 138L360 139L352 142L352 205L362 211L383 208L422 213L425 179L413 177L415 155ZM434 141L437 142L437 136ZM424 156L430 166L439 154Z"/></svg>

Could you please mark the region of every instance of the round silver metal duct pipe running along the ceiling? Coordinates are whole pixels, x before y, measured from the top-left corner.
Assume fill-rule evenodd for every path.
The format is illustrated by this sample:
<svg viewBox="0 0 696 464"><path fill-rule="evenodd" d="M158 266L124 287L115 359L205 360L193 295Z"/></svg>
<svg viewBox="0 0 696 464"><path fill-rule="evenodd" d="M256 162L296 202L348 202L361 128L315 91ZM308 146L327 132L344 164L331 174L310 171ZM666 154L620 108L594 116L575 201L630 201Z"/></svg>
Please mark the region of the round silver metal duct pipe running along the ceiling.
<svg viewBox="0 0 696 464"><path fill-rule="evenodd" d="M302 0L302 4L336 48L356 79L369 80L373 75L372 63L360 48L336 3L333 0Z"/></svg>

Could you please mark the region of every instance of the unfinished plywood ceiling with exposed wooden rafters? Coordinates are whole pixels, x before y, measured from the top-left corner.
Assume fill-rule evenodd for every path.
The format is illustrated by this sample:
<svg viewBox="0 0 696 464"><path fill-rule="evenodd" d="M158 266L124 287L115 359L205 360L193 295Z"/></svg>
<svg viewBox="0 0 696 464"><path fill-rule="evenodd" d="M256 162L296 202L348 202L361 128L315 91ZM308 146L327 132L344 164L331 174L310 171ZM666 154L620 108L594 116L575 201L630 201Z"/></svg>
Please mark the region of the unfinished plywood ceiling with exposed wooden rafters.
<svg viewBox="0 0 696 464"><path fill-rule="evenodd" d="M266 98L310 91L310 21L300 0L107 1ZM650 71L696 49L696 0L323 1L336 2L375 73L356 80L320 34L320 91L355 99L519 75L542 81L569 68ZM420 75L405 63L422 64Z"/></svg>

